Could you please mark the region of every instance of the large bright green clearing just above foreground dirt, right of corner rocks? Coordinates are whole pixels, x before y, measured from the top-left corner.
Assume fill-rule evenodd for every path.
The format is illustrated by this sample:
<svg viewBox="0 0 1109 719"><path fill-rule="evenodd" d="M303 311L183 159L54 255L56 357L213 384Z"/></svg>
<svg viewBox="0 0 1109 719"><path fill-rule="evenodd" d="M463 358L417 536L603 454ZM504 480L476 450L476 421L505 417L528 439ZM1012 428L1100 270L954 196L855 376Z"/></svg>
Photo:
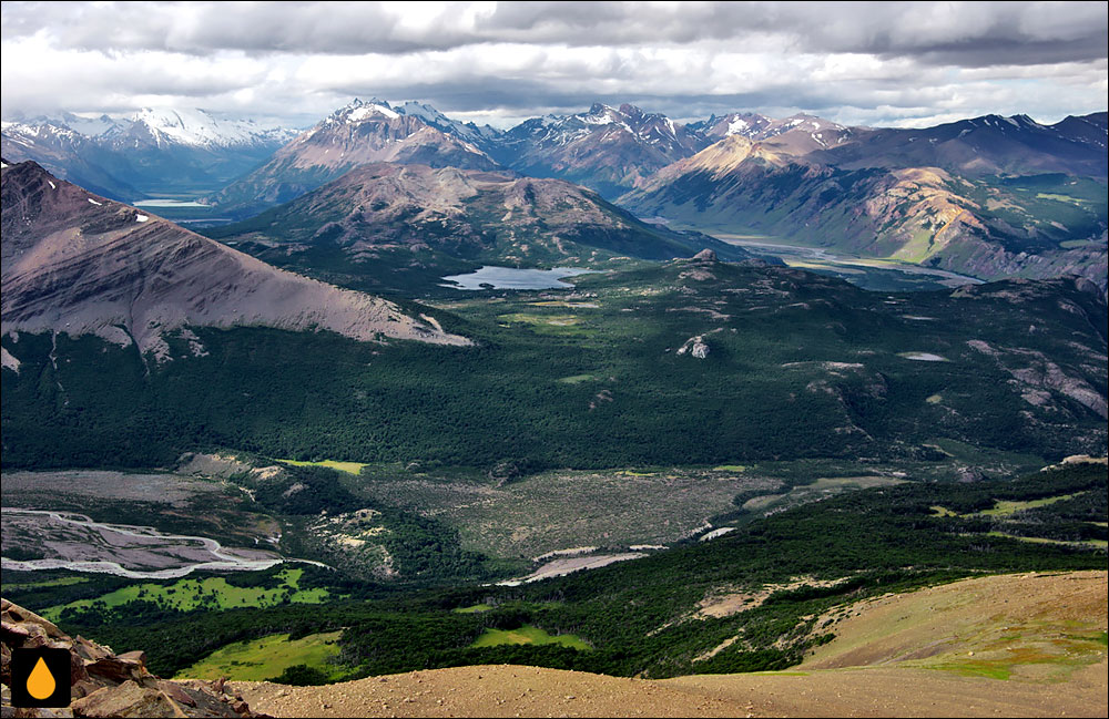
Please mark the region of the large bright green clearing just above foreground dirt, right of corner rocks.
<svg viewBox="0 0 1109 719"><path fill-rule="evenodd" d="M175 678L213 680L227 677L233 681L261 681L303 664L319 669L330 679L337 679L344 671L332 659L339 654L340 634L343 633L309 634L292 640L287 634L275 634L261 639L236 641L182 669Z"/></svg>

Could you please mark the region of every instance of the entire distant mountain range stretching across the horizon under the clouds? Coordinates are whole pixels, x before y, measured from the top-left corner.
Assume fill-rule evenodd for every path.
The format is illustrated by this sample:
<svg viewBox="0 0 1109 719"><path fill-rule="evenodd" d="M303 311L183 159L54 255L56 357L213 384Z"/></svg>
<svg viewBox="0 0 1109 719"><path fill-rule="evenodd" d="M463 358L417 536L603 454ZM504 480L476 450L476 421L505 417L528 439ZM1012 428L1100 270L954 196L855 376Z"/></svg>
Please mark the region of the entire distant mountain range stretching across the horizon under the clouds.
<svg viewBox="0 0 1109 719"><path fill-rule="evenodd" d="M983 279L1078 274L1109 285L1106 113L1054 125L986 115L908 130L750 112L681 124L596 103L498 131L425 103L374 99L275 148L291 134L204 113L144 111L125 123L68 115L7 124L4 156L37 160L112 197L150 192L152 177L173 175L232 220L365 164L511 170L588 187L675 229L779 238ZM233 168L243 172L205 194L202 185Z"/></svg>

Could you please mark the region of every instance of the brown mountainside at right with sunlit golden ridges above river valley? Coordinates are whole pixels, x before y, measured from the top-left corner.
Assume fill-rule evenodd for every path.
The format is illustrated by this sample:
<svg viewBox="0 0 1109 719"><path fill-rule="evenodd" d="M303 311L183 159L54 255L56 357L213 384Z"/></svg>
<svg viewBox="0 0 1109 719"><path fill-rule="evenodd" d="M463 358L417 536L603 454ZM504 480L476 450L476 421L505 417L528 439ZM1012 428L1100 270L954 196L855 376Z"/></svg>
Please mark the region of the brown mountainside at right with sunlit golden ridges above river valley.
<svg viewBox="0 0 1109 719"><path fill-rule="evenodd" d="M1105 289L1106 153L1097 121L1045 127L985 117L838 134L802 123L765 140L735 132L660 170L620 204L679 226L773 235L986 279L1078 274ZM821 146L828 138L836 144ZM1038 174L990 174L1017 171Z"/></svg>

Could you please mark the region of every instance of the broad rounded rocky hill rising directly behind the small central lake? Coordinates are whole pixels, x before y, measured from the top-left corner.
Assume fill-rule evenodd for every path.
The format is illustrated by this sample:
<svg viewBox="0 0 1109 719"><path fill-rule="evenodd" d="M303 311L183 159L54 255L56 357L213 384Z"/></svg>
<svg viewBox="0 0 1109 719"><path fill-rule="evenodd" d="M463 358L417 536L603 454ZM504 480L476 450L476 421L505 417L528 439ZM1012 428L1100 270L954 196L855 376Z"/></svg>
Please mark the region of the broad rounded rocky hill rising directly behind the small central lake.
<svg viewBox="0 0 1109 719"><path fill-rule="evenodd" d="M306 271L322 263L334 269L343 259L349 275L394 289L404 289L404 276L417 270L437 283L458 260L597 266L618 256L672 259L703 248L728 259L751 257L704 235L640 222L564 181L395 163L363 165L208 234Z"/></svg>

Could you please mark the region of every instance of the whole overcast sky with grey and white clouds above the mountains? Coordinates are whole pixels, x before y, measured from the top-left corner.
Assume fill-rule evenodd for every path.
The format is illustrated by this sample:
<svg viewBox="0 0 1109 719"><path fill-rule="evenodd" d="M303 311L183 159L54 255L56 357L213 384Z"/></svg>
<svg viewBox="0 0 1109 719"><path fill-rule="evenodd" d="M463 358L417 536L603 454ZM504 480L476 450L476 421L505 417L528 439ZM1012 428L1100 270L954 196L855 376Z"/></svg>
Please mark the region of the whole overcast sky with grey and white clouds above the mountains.
<svg viewBox="0 0 1109 719"><path fill-rule="evenodd" d="M204 107L311 124L354 96L506 126L592 102L849 124L1106 110L1096 2L3 2L2 114Z"/></svg>

